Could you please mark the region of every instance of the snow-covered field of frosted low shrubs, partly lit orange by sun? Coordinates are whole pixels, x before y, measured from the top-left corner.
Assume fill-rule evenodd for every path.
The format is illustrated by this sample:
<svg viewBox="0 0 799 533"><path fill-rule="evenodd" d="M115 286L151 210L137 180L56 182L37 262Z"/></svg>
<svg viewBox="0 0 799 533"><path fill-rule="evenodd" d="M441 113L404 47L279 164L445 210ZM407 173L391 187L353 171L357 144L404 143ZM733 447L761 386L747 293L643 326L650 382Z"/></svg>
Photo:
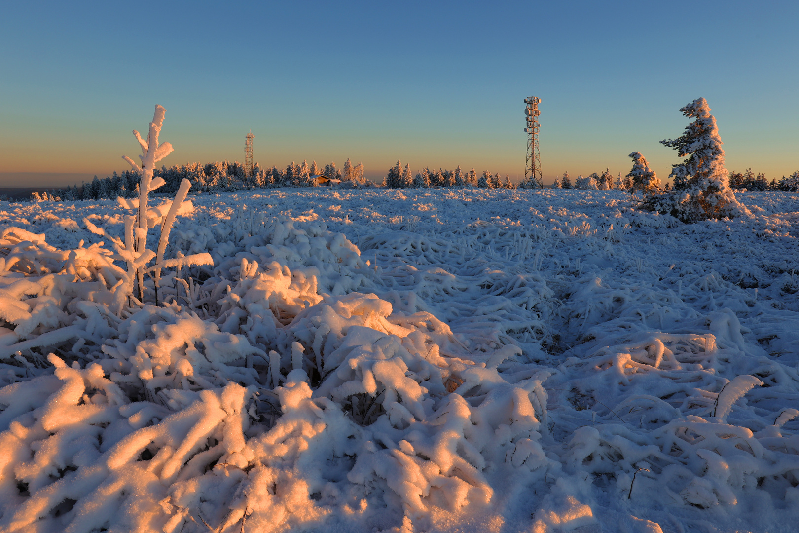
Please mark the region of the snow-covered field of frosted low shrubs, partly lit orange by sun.
<svg viewBox="0 0 799 533"><path fill-rule="evenodd" d="M116 313L128 209L3 202L0 532L796 531L799 193L737 197L189 197Z"/></svg>

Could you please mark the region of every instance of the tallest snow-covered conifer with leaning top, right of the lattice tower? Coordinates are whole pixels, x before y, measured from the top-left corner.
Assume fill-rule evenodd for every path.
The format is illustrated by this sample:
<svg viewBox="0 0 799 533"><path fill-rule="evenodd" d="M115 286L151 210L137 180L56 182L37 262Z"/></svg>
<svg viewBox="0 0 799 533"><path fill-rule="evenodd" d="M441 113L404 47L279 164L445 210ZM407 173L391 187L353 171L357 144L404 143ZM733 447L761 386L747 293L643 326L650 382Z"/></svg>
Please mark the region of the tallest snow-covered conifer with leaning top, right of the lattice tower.
<svg viewBox="0 0 799 533"><path fill-rule="evenodd" d="M729 187L721 137L705 98L698 98L680 110L684 116L695 120L686 126L680 137L661 142L676 149L679 157L688 156L685 161L672 165L669 175L674 177L675 189L678 180L685 182L685 188L679 193L649 197L645 209L670 213L684 222L749 213Z"/></svg>

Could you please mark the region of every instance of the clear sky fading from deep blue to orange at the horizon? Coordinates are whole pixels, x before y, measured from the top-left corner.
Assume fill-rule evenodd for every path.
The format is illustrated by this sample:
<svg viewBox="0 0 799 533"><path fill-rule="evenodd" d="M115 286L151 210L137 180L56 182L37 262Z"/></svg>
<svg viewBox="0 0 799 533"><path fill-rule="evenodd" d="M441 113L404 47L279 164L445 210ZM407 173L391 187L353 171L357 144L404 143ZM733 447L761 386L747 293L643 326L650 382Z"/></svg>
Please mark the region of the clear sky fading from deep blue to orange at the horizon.
<svg viewBox="0 0 799 533"><path fill-rule="evenodd" d="M0 186L105 176L166 108L165 165L349 157L524 172L542 98L544 181L631 167L706 97L727 167L799 169L799 2L8 2ZM30 173L30 174L19 174ZM46 175L44 173L71 173Z"/></svg>

